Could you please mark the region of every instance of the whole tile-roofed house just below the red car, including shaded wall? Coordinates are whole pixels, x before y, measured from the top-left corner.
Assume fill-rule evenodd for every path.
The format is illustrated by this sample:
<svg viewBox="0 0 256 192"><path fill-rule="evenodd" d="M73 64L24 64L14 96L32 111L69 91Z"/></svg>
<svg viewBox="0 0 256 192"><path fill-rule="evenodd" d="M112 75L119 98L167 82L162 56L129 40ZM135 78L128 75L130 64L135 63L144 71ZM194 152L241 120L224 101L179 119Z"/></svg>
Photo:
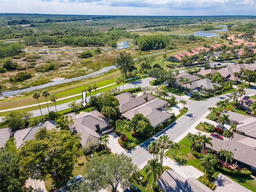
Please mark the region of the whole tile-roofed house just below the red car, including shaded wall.
<svg viewBox="0 0 256 192"><path fill-rule="evenodd" d="M236 137L236 133L234 133L234 137ZM241 138L241 137L240 137ZM238 165L243 164L247 166L248 169L256 170L256 140L252 138L242 138L242 139L230 139L225 138L224 140L220 140L217 138L212 138L211 140L212 146L210 144L206 144L206 148L211 148L214 152L218 152L221 149L232 151L234 154L234 162L237 161ZM250 154L250 155L249 155Z"/></svg>

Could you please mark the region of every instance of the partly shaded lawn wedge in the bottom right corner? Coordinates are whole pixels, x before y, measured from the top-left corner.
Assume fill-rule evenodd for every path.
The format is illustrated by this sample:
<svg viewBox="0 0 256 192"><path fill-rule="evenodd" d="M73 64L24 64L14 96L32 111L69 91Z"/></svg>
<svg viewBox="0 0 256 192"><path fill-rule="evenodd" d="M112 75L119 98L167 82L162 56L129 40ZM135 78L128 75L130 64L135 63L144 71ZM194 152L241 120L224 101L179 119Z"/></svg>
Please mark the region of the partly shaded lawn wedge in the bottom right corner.
<svg viewBox="0 0 256 192"><path fill-rule="evenodd" d="M224 174L224 173L222 173ZM234 175L227 175L228 178L234 180L238 184L244 186L245 188L251 190L252 192L256 192L256 180L251 177L245 177L245 176L234 176Z"/></svg>

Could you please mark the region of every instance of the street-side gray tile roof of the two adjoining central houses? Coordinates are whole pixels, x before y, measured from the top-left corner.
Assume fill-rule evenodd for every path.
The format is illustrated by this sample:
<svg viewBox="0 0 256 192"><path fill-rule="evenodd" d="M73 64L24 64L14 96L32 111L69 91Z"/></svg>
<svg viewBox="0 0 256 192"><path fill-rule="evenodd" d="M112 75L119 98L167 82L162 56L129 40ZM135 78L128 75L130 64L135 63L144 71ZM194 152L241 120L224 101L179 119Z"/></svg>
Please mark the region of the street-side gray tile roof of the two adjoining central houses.
<svg viewBox="0 0 256 192"><path fill-rule="evenodd" d="M160 98L155 98L147 103L144 103L136 108L133 108L121 115L129 120L136 114L142 114L150 120L151 125L156 128L160 123L166 122L171 118L172 114L162 111L168 106L168 102Z"/></svg>

